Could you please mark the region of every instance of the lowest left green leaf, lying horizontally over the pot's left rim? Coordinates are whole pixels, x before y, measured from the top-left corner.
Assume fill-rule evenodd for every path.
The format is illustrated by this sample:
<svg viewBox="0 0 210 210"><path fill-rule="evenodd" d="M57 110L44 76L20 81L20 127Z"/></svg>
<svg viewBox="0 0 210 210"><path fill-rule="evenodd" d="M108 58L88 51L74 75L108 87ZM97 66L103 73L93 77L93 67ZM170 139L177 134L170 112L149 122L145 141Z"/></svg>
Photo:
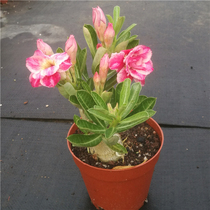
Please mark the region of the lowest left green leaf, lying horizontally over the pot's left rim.
<svg viewBox="0 0 210 210"><path fill-rule="evenodd" d="M94 147L102 141L102 135L100 134L72 134L67 139L77 147Z"/></svg>

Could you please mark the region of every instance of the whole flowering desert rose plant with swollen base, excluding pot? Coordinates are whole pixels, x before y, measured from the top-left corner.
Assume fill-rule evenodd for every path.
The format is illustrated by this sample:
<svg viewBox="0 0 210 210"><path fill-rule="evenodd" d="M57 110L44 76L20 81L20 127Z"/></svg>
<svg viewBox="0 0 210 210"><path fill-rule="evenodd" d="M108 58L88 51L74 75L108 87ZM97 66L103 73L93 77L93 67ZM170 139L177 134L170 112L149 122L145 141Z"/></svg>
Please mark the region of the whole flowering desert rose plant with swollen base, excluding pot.
<svg viewBox="0 0 210 210"><path fill-rule="evenodd" d="M119 133L152 117L156 102L156 98L139 95L153 71L151 49L139 45L137 35L131 36L136 24L121 31L125 17L120 16L119 6L114 7L113 17L106 17L100 7L93 8L94 27L83 26L93 77L87 71L87 49L81 49L73 35L65 51L58 48L56 53L37 40L38 49L26 59L32 87L57 87L79 109L74 122L84 134L70 135L68 140L73 146L87 147L104 162L123 158L127 150Z"/></svg>

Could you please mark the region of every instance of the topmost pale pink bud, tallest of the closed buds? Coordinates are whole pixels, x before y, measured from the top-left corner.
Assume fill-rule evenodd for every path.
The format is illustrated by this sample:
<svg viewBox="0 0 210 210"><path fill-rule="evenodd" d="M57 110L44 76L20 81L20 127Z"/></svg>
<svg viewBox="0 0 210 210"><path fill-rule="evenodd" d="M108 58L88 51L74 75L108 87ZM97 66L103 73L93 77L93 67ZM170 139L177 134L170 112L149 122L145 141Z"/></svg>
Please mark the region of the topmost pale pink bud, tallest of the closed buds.
<svg viewBox="0 0 210 210"><path fill-rule="evenodd" d="M93 8L92 19L97 36L99 40L103 42L104 32L106 30L106 18L99 6L97 8Z"/></svg>

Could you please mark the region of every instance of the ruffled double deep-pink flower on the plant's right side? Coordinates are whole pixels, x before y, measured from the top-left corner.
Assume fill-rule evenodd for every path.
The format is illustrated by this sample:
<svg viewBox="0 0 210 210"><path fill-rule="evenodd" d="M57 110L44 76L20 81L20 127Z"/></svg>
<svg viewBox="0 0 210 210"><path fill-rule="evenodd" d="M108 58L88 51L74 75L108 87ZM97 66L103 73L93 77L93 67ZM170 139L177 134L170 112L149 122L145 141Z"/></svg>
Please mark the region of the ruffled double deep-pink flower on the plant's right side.
<svg viewBox="0 0 210 210"><path fill-rule="evenodd" d="M146 76L153 71L151 57L152 51L149 47L138 45L133 49L113 53L109 60L109 68L118 72L118 83L130 78L141 82L143 86Z"/></svg>

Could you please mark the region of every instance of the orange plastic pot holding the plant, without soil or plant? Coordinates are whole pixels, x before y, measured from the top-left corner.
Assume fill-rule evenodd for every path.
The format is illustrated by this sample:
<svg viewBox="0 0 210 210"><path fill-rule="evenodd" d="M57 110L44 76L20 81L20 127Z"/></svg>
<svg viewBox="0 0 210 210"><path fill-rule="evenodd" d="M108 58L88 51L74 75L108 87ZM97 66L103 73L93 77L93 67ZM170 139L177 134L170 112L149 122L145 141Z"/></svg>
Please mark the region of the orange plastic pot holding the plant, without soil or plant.
<svg viewBox="0 0 210 210"><path fill-rule="evenodd" d="M155 164L163 147L163 131L158 123L150 118L147 123L157 132L161 146L150 160L127 169L101 169L90 166L78 159L71 151L71 143L67 140L69 151L80 169L88 194L97 209L105 210L138 210L144 205L152 180ZM77 126L72 125L68 136L75 133Z"/></svg>

